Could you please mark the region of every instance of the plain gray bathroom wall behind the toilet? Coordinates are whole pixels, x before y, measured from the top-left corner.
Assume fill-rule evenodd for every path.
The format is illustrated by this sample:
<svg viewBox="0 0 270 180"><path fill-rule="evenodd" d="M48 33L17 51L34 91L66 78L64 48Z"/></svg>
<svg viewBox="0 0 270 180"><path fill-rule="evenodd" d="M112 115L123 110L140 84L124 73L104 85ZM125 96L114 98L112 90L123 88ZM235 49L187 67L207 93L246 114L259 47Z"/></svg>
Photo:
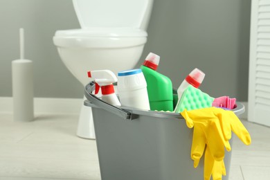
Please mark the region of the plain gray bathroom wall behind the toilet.
<svg viewBox="0 0 270 180"><path fill-rule="evenodd" d="M251 0L155 0L149 52L161 56L158 71L178 87L195 67L206 73L200 89L210 96L247 101ZM35 97L82 98L83 87L66 69L52 37L80 28L71 0L0 0L0 96L12 96L11 61L19 58L19 28L26 58L34 62Z"/></svg>

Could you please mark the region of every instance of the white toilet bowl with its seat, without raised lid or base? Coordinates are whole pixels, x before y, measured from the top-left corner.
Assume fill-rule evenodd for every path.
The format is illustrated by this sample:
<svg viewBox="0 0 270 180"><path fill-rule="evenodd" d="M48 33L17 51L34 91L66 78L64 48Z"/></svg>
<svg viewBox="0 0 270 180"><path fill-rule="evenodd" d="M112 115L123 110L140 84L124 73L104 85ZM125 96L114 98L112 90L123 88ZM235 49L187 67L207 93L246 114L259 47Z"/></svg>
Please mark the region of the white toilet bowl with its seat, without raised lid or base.
<svg viewBox="0 0 270 180"><path fill-rule="evenodd" d="M57 51L73 75L85 85L87 71L132 69L147 42L147 33L134 28L58 30L53 37ZM84 72L84 73L82 73Z"/></svg>

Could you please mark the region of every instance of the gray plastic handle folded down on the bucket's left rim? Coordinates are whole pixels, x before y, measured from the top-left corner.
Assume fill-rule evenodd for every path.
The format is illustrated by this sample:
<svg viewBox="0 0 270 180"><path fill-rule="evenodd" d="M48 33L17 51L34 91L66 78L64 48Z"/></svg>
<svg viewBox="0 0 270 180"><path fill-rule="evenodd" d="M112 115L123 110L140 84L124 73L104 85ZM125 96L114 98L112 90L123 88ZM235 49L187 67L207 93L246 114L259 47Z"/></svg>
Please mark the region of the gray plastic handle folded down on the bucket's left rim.
<svg viewBox="0 0 270 180"><path fill-rule="evenodd" d="M110 105L109 103L103 100L100 100L100 98L94 96L91 92L95 88L96 88L96 85L95 85L95 82L93 81L87 84L87 86L85 87L84 96L87 98L87 100L84 101L85 106L90 106L89 103L91 103L93 105L96 105L97 107L105 109L106 111L116 114L117 116L120 116L121 118L125 120L134 120L138 118L138 114L132 114L132 112L130 111Z"/></svg>

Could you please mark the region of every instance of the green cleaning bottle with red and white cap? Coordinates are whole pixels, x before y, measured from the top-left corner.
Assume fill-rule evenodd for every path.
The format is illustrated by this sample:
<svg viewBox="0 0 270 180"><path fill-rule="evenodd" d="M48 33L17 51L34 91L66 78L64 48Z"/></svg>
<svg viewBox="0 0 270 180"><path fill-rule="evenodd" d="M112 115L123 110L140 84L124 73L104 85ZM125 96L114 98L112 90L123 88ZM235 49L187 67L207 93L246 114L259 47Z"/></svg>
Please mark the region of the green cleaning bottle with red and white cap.
<svg viewBox="0 0 270 180"><path fill-rule="evenodd" d="M156 72L159 66L159 55L149 53L141 66L147 82L147 93L152 111L173 111L172 81Z"/></svg>

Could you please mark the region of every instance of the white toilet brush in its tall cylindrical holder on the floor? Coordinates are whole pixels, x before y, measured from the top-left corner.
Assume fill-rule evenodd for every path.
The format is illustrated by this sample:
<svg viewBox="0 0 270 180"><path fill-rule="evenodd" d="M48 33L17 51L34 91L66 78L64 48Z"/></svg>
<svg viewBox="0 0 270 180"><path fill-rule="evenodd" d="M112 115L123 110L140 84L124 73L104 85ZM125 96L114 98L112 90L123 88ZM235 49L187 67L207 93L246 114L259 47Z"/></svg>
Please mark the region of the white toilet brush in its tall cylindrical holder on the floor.
<svg viewBox="0 0 270 180"><path fill-rule="evenodd" d="M20 59L12 61L13 120L34 118L33 62L24 59L24 29L19 29Z"/></svg>

